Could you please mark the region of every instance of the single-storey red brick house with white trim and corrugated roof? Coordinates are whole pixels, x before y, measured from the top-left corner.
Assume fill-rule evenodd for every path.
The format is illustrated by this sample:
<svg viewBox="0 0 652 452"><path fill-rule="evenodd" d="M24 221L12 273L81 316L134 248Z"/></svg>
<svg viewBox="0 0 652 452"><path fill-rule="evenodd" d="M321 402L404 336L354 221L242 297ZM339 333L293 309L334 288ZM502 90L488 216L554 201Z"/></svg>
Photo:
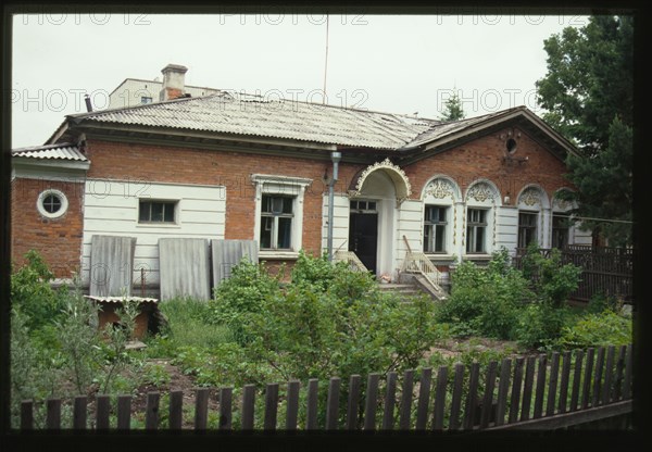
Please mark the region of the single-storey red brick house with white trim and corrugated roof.
<svg viewBox="0 0 652 452"><path fill-rule="evenodd" d="M79 272L91 294L112 275L117 285L96 294L200 278L188 290L203 296L225 243L275 268L331 241L334 255L392 280L408 256L446 278L502 247L590 243L555 197L574 189L564 159L575 149L525 106L441 122L187 97L186 68L163 72L162 101L67 115L43 146L12 151L14 259L35 248L58 277Z"/></svg>

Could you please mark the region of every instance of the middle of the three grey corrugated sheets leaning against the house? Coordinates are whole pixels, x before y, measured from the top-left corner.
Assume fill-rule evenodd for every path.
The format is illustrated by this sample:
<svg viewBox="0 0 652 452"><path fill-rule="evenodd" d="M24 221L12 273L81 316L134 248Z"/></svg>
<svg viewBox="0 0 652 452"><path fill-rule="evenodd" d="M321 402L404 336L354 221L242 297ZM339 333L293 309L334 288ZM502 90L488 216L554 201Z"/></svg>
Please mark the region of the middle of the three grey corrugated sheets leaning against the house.
<svg viewBox="0 0 652 452"><path fill-rule="evenodd" d="M175 297L211 298L209 242L206 239L159 239L161 300Z"/></svg>

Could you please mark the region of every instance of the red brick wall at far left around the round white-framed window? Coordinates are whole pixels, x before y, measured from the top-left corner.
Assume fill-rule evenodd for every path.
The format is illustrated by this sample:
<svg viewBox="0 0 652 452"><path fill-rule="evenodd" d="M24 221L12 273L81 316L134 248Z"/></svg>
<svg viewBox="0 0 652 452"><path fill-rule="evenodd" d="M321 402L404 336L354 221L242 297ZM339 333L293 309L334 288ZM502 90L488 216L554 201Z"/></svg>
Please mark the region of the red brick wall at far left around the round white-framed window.
<svg viewBox="0 0 652 452"><path fill-rule="evenodd" d="M36 209L38 196L60 190L68 201L59 218L46 218ZM15 265L24 263L27 251L38 251L58 278L79 271L84 215L84 184L16 178L11 184L11 254Z"/></svg>

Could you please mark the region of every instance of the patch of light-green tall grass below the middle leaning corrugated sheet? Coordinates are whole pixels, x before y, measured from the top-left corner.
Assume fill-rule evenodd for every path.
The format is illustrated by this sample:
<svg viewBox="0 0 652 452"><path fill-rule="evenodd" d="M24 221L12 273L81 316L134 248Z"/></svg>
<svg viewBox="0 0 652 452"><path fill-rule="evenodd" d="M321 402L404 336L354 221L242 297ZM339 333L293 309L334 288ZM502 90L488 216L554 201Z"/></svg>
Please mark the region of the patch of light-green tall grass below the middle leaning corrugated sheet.
<svg viewBox="0 0 652 452"><path fill-rule="evenodd" d="M206 301L188 297L176 298L159 303L159 310L167 319L167 325L161 335L149 339L150 355L168 355L179 347L212 348L234 341L227 326L211 322L211 311Z"/></svg>

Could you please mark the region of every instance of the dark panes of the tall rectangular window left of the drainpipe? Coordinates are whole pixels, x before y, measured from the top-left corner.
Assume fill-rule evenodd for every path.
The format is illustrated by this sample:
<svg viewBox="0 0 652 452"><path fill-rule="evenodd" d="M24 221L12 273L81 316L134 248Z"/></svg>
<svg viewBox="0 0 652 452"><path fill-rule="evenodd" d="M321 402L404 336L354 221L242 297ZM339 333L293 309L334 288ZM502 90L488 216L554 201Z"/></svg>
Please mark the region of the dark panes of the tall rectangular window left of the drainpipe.
<svg viewBox="0 0 652 452"><path fill-rule="evenodd" d="M263 194L261 205L261 249L292 249L293 204L293 197Z"/></svg>

